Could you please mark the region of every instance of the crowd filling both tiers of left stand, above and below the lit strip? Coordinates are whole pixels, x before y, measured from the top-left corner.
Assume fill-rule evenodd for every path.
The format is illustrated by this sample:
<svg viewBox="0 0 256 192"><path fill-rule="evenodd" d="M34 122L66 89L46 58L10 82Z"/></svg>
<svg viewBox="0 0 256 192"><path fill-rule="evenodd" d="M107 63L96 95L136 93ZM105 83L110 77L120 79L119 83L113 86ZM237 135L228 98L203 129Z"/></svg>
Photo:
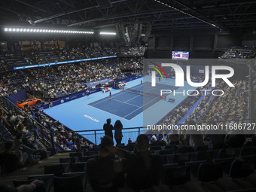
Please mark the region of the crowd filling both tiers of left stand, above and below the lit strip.
<svg viewBox="0 0 256 192"><path fill-rule="evenodd" d="M124 49L130 50L130 48ZM140 50L140 54L145 51L144 47L133 47L131 49ZM120 48L78 47L72 50L32 50L30 58L35 60L36 64L41 64L116 54L120 54ZM2 56L2 67L8 64L5 61L13 57L15 57L12 62L14 65L17 64L17 58L25 59L26 63L32 64L30 59L24 57L22 50L19 53L5 53ZM31 92L40 91L45 97L53 98L87 90L89 88L86 85L87 82L99 81L104 78L126 78L126 73L122 72L123 70L137 70L139 72L142 69L142 57L133 56L5 72L0 74L0 91L5 96L11 96L26 88Z"/></svg>

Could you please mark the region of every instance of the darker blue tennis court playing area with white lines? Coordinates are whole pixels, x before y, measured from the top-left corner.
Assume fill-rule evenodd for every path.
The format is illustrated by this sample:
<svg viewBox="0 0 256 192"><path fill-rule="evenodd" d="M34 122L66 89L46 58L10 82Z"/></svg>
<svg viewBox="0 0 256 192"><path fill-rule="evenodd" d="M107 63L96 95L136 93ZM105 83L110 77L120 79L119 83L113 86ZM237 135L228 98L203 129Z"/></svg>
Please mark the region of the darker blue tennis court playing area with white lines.
<svg viewBox="0 0 256 192"><path fill-rule="evenodd" d="M124 87L125 90L113 94L111 99L107 96L88 105L131 120L143 110L160 101L160 90L176 90L178 88L166 84L157 84L156 87L151 87L151 83L147 81L143 86L139 84L130 88Z"/></svg>

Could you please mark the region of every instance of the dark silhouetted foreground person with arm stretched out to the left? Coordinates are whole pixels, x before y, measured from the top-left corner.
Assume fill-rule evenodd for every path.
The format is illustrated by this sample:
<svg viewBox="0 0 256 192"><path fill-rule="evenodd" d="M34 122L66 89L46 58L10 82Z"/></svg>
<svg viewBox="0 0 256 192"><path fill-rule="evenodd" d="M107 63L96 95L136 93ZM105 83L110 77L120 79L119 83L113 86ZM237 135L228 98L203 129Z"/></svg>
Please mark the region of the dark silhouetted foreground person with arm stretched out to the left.
<svg viewBox="0 0 256 192"><path fill-rule="evenodd" d="M114 146L108 150L120 154L127 160L127 184L134 190L155 189L160 184L160 156L151 154L148 136L142 134L136 139L136 153L129 153Z"/></svg>

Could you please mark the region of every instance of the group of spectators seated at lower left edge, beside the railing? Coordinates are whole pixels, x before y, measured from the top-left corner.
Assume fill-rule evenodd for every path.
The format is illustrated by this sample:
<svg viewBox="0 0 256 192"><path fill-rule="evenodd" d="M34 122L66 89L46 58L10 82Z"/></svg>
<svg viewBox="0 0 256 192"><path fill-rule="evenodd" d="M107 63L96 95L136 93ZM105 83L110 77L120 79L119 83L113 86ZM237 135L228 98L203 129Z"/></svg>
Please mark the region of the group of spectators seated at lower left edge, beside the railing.
<svg viewBox="0 0 256 192"><path fill-rule="evenodd" d="M3 140L7 140L4 151L0 154L2 173L12 172L28 164L37 163L40 160L38 155L44 151L38 143L41 134L39 135L28 110L24 109L20 114L17 114L15 110L8 112L2 108L0 110L0 135L3 136ZM6 133L11 133L12 137L6 139Z"/></svg>

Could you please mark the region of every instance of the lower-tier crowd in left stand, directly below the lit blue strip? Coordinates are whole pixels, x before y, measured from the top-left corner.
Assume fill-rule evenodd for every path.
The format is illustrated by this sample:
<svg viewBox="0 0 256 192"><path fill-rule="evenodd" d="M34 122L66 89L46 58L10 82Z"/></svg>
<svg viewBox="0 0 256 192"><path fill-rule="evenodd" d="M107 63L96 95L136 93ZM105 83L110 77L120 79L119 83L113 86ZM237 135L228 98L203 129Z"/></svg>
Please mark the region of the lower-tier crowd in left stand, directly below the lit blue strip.
<svg viewBox="0 0 256 192"><path fill-rule="evenodd" d="M126 78L123 69L142 69L141 58L116 58L72 63L0 74L0 91L11 96L19 90L40 91L45 97L65 96L87 90L87 82Z"/></svg>

